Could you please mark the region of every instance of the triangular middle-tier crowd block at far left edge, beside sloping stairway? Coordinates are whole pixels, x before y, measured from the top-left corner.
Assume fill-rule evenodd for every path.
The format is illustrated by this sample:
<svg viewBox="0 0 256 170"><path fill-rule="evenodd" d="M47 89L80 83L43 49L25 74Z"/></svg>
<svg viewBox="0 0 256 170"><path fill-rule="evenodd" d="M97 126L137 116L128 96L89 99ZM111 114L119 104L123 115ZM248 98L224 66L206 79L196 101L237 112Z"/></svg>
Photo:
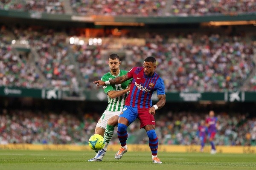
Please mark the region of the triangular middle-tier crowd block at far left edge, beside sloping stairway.
<svg viewBox="0 0 256 170"><path fill-rule="evenodd" d="M11 48L12 38L5 27L0 28L0 85L42 88L35 67L20 58Z"/></svg>

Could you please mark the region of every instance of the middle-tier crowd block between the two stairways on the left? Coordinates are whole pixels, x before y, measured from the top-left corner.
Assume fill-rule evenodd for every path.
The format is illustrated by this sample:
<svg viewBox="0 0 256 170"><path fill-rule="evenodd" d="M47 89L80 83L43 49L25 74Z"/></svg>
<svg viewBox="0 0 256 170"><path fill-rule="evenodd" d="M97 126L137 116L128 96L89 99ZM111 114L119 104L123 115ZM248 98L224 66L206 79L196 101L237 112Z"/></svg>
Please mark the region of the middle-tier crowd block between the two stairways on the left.
<svg viewBox="0 0 256 170"><path fill-rule="evenodd" d="M32 48L35 48L39 58L35 59L35 65L46 79L50 81L50 87L69 90L73 84L77 84L74 65L70 63L68 55L67 35L64 32L56 32L48 28L13 28L16 40L27 40Z"/></svg>

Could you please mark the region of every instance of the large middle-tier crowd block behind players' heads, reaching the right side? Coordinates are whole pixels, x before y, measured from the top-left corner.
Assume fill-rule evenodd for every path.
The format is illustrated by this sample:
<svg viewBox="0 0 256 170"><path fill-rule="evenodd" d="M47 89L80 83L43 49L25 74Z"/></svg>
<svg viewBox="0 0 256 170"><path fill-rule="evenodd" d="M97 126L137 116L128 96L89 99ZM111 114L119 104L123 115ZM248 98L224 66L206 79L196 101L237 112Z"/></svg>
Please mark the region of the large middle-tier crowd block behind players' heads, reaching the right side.
<svg viewBox="0 0 256 170"><path fill-rule="evenodd" d="M119 50L129 51L131 55L122 61L121 68L129 70L141 66L144 56L154 56L166 91L224 91L241 88L255 66L255 43L244 42L244 37L239 35L194 32L171 37L156 34L145 36L144 45L123 44ZM81 73L88 82L86 88L96 88L90 82L107 72L106 61L100 52L110 49L110 44L73 45Z"/></svg>

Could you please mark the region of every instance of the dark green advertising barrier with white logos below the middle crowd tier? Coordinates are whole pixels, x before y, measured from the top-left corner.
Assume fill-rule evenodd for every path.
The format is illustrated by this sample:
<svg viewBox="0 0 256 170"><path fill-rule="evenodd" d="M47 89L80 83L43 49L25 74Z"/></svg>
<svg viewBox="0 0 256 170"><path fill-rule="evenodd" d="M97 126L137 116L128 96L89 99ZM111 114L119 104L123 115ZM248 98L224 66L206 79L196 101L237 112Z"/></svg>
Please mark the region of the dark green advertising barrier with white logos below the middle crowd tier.
<svg viewBox="0 0 256 170"><path fill-rule="evenodd" d="M41 99L66 99L64 96L70 95L70 91L59 89L36 89L0 86L0 96L6 97L32 97ZM84 91L84 99L87 101L108 101L107 95L102 90ZM68 98L67 98L68 99ZM151 97L152 101L157 101L157 94ZM234 92L167 92L166 102L199 102L199 101L222 101L222 102L255 102L256 92L234 91Z"/></svg>

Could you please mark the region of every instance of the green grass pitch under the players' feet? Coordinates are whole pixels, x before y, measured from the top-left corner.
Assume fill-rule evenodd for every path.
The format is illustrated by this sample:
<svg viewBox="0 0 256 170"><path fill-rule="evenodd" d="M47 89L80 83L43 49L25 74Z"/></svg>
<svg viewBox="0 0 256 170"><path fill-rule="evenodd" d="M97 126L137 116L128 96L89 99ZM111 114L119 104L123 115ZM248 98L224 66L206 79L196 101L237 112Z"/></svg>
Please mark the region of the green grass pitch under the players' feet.
<svg viewBox="0 0 256 170"><path fill-rule="evenodd" d="M256 154L158 153L163 164L153 164L150 152L127 152L114 159L88 162L95 153L81 151L0 150L0 170L256 170Z"/></svg>

